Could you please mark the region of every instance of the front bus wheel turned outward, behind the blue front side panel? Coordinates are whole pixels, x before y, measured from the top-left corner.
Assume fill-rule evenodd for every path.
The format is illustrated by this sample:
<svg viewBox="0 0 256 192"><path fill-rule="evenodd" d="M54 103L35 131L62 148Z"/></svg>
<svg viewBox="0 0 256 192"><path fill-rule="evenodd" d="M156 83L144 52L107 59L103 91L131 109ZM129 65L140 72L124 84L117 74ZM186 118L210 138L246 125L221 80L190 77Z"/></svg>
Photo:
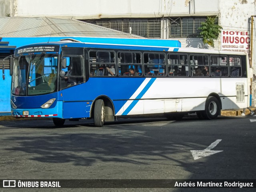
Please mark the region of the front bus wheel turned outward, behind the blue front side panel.
<svg viewBox="0 0 256 192"><path fill-rule="evenodd" d="M104 110L104 101L98 99L95 101L94 105L94 125L96 127L102 127L105 122L105 110Z"/></svg>

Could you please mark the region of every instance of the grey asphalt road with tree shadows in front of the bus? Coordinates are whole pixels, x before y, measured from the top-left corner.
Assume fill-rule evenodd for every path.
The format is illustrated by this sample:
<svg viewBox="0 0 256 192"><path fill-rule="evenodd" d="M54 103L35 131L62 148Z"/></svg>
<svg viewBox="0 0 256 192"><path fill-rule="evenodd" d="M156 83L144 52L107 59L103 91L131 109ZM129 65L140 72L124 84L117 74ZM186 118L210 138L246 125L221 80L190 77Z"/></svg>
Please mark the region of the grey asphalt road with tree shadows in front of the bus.
<svg viewBox="0 0 256 192"><path fill-rule="evenodd" d="M0 122L2 179L256 179L253 116L182 121L118 119ZM218 141L218 142L216 142ZM215 143L214 143L215 142ZM212 145L211 145L212 144ZM216 145L215 145L216 144ZM220 150L194 159L190 150ZM14 189L0 188L0 191ZM61 188L15 191L234 192L252 188Z"/></svg>

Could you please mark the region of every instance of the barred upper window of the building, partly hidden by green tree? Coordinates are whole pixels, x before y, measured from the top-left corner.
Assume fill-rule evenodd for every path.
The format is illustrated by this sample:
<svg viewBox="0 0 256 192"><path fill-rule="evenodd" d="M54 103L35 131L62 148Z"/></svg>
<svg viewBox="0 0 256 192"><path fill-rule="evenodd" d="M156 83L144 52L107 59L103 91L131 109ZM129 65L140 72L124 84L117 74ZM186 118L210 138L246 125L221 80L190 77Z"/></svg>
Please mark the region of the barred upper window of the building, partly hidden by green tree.
<svg viewBox="0 0 256 192"><path fill-rule="evenodd" d="M206 17L174 17L169 18L170 38L187 38L198 37L200 31L198 28L201 26L201 22L205 22ZM218 18L216 18L216 24L218 24Z"/></svg>

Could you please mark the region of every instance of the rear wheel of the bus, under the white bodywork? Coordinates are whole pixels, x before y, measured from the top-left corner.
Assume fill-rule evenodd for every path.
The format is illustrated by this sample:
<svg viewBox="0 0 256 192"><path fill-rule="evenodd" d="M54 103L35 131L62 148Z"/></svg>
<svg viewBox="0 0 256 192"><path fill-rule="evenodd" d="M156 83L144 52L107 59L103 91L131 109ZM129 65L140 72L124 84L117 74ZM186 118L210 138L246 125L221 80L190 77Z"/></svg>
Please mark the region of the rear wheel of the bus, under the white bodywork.
<svg viewBox="0 0 256 192"><path fill-rule="evenodd" d="M216 119L220 112L220 103L216 97L210 96L206 99L204 117L206 119Z"/></svg>

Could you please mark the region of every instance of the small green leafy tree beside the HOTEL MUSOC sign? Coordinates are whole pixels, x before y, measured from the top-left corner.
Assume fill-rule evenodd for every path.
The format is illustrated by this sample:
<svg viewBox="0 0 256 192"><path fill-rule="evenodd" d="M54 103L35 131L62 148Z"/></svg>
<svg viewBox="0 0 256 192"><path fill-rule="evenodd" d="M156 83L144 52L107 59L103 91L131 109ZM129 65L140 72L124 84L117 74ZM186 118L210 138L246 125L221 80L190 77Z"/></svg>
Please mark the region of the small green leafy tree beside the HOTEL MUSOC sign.
<svg viewBox="0 0 256 192"><path fill-rule="evenodd" d="M205 22L201 23L201 27L198 28L200 30L200 36L202 37L203 44L209 45L214 48L214 40L217 40L222 27L216 24L217 16L208 16Z"/></svg>

